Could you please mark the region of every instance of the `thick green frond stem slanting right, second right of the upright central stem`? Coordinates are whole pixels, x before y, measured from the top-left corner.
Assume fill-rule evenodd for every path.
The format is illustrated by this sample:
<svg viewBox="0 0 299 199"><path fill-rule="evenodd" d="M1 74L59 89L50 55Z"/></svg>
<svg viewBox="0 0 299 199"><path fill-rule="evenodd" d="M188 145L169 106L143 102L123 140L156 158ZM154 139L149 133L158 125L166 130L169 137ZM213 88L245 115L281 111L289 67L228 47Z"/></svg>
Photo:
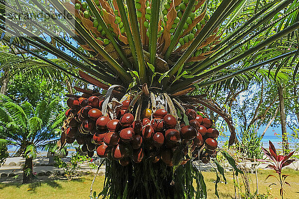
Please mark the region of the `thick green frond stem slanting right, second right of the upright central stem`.
<svg viewBox="0 0 299 199"><path fill-rule="evenodd" d="M208 20L203 29L199 32L196 38L193 40L191 45L185 51L185 53L179 58L179 60L174 64L174 66L170 69L168 75L169 77L173 76L178 69L187 61L187 59L191 56L191 54L197 49L197 47L204 41L204 39L209 35L215 24L221 23L220 19L223 15L227 14L227 8L231 6L232 0L223 0L221 4L217 7L215 12L212 14L211 18ZM224 19L223 19L224 20ZM173 39L174 40L174 39Z"/></svg>

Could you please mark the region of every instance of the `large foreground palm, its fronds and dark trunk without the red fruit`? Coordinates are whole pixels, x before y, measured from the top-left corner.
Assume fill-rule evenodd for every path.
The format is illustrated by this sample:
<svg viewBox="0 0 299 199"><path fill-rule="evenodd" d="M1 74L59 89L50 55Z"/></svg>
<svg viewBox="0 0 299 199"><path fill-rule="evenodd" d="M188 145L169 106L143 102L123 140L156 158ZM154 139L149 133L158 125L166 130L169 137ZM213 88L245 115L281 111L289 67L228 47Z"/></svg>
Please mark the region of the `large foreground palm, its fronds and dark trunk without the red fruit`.
<svg viewBox="0 0 299 199"><path fill-rule="evenodd" d="M196 109L202 104L228 122L231 130L229 145L235 138L230 115L204 96L190 94L209 86L227 87L234 86L231 82L246 82L256 76L261 67L298 55L298 45L288 45L290 40L296 39L294 31L299 28L298 0L0 2L0 9L3 9L0 14L1 41L99 87L100 93L75 89L84 93L83 98L95 95L106 99L102 105L104 115L115 107L112 104L120 105L119 102L130 99L132 103L127 112L137 113L137 120L146 108L155 112L164 107L176 120L188 124L185 109ZM34 13L44 17L34 17ZM69 63L78 69L78 73L31 51L29 46L43 49ZM278 67L277 72L280 69ZM113 102L112 96L115 97ZM69 104L72 109L68 113L72 114L68 114L63 125L61 146L68 137L66 127L71 119L75 117L80 124L83 120L77 110L79 96L70 97L70 102L75 104ZM202 109L197 110L202 112ZM94 125L88 119L84 121ZM180 130L179 125L176 128ZM103 133L98 129L95 131L92 133ZM78 143L93 153L98 146L91 143L93 135L80 128L74 132ZM110 198L126 198L127 195L129 198L191 198L194 194L206 198L200 171L190 161L179 166L186 158L181 155L180 147L186 147L189 154L186 156L191 159L193 145L189 141L179 141L178 146L172 148L176 155L170 157L168 167L161 161L154 165L150 158L145 158L141 164L132 162L128 167L122 167L109 156L105 189L101 194ZM105 145L101 142L100 146ZM150 147L143 147L145 154L151 151ZM202 149L196 149L195 156L197 153L201 157L202 152ZM216 159L214 161L217 163ZM221 168L220 165L217 168ZM197 190L193 188L193 178Z"/></svg>

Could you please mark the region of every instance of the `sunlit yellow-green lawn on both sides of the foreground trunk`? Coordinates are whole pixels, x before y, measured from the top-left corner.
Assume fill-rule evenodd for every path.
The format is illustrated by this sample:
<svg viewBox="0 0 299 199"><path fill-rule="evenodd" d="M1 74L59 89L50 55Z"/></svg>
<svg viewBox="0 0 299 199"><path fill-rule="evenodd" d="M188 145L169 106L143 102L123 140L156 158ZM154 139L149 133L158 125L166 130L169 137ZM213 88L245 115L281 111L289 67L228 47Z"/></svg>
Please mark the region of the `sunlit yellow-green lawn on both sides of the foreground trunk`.
<svg viewBox="0 0 299 199"><path fill-rule="evenodd" d="M260 193L266 193L267 189L270 191L273 199L279 198L279 189L276 186L272 186L269 189L268 186L274 181L274 178L265 181L269 174L273 174L272 171L258 171L259 178L259 191ZM286 186L285 199L299 199L299 171L284 170L284 174L290 175L288 182L292 187ZM208 199L216 199L214 195L214 181L215 174L211 172L203 172L205 182L207 184ZM32 183L30 185L21 185L19 183L1 184L0 185L0 199L88 199L89 190L92 181L92 176L82 176L79 179L72 181L55 180L44 183ZM224 183L218 184L218 192L220 199L234 199L234 186L232 173L226 174L227 185ZM255 191L255 174L251 174L253 184L251 183L251 191ZM99 192L102 189L104 176L97 177L94 190ZM242 182L241 176L239 176L239 182Z"/></svg>

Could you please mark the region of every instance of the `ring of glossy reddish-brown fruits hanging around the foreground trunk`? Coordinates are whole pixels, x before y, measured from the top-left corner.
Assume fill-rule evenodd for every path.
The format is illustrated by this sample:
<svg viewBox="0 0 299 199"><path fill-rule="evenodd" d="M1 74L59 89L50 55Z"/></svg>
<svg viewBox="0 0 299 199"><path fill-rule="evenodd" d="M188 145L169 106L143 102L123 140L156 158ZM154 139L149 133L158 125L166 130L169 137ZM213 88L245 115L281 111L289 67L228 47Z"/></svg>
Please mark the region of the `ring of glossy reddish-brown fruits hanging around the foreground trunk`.
<svg viewBox="0 0 299 199"><path fill-rule="evenodd" d="M123 166L130 163L130 158L140 163L144 157L151 158L153 163L161 159L167 166L172 166L173 152L182 145L185 159L181 164L191 158L187 156L189 151L194 159L203 163L208 163L210 156L215 155L215 139L219 132L211 128L213 121L210 118L203 118L195 110L187 109L185 114L189 125L185 125L177 122L165 109L157 109L152 114L145 114L140 121L128 112L130 100L122 104L117 117L110 118L103 115L103 100L96 96L69 98L67 105L70 109L65 114L69 117L72 113L73 118L66 129L66 142L76 140L90 157L96 151L99 157L112 157ZM201 114L204 115L203 112ZM200 149L204 144L203 152Z"/></svg>

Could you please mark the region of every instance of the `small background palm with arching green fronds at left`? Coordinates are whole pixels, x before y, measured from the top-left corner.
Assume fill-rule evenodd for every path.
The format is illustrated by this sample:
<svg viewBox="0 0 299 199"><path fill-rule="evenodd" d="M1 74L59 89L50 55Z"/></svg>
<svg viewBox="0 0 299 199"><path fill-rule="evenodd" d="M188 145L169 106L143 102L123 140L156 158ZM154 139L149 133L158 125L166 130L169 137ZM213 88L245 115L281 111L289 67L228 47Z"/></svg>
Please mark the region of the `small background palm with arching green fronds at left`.
<svg viewBox="0 0 299 199"><path fill-rule="evenodd" d="M0 136L6 143L19 147L25 158L23 166L23 183L32 180L32 160L37 149L51 144L60 132L64 114L59 100L39 101L36 107L29 102L15 104L8 97L0 96L0 124L3 129ZM3 140L1 140L3 141Z"/></svg>

